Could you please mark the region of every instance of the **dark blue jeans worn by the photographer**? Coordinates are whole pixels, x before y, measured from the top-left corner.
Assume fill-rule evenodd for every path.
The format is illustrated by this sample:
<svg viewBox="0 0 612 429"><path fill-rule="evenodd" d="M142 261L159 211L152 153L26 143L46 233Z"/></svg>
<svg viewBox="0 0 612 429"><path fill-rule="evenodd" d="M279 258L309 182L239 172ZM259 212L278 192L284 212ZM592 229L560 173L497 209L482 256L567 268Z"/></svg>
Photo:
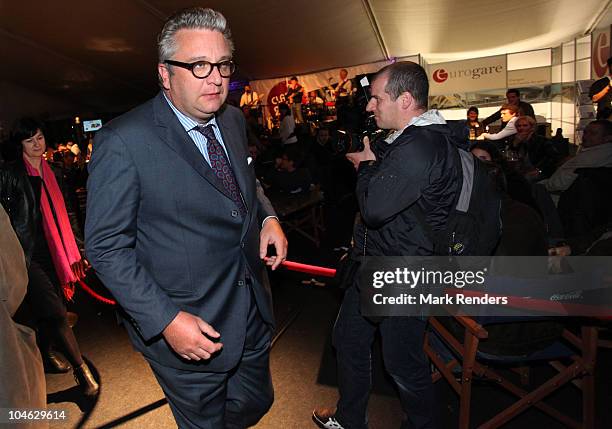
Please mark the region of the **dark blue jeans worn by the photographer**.
<svg viewBox="0 0 612 429"><path fill-rule="evenodd" d="M402 428L433 428L433 385L423 351L425 321L387 317L374 324L361 316L355 286L347 289L334 326L340 390L336 419L347 429L368 427L372 343L377 329L382 338L385 369L397 385L407 416Z"/></svg>

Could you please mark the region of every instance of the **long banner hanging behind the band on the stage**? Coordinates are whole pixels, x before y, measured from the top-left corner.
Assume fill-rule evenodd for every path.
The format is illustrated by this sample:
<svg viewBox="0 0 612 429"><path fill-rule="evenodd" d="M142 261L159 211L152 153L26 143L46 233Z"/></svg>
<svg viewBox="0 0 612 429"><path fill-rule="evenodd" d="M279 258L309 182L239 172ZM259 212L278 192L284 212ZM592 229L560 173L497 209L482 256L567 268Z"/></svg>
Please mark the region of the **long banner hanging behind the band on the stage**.
<svg viewBox="0 0 612 429"><path fill-rule="evenodd" d="M419 64L419 55L412 55L409 57L402 57L396 61L412 61ZM307 73L295 75L298 78L300 85L308 91L312 91L318 88L326 88L330 84L335 84L339 81L340 70L345 68L348 71L348 78L352 79L357 75L365 73L374 73L390 64L391 61L377 61L374 63L361 64L353 67L338 67L335 69L324 70L317 73ZM259 95L259 99L262 100L263 104L269 105L269 109L272 110L273 106L285 101L284 94L286 87L291 76L284 76L274 79L261 79L253 80L250 82L251 87Z"/></svg>

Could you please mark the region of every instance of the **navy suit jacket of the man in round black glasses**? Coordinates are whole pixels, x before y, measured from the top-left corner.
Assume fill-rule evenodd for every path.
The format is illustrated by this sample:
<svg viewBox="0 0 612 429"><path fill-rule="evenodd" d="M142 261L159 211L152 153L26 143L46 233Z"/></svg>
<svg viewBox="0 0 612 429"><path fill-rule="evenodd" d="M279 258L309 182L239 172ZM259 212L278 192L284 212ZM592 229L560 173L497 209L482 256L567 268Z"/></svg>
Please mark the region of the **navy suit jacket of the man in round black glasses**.
<svg viewBox="0 0 612 429"><path fill-rule="evenodd" d="M217 114L248 214L243 219L162 93L96 135L89 164L86 251L124 311L135 347L173 368L227 371L242 354L251 279L257 306L273 324L261 221L274 215L248 165L241 112ZM161 332L179 310L220 334L206 362L182 360Z"/></svg>

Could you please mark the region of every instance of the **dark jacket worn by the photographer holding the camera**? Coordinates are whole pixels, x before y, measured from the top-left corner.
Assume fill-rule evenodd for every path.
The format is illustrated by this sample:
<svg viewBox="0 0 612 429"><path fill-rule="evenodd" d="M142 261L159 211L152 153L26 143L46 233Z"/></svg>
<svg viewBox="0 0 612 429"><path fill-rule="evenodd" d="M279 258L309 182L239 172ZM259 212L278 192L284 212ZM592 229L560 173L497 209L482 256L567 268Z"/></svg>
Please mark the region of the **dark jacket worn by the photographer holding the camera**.
<svg viewBox="0 0 612 429"><path fill-rule="evenodd" d="M366 255L434 253L432 235L446 226L461 183L450 139L446 125L410 126L393 143L373 147L376 161L361 163L357 178L360 254L366 227Z"/></svg>

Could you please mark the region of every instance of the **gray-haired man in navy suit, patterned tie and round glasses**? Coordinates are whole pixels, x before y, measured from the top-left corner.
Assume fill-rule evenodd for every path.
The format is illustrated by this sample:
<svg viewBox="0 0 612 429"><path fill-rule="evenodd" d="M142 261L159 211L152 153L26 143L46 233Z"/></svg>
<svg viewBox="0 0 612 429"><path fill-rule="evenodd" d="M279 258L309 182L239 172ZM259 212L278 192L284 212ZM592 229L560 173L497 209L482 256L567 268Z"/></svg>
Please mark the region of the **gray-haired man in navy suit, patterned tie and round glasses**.
<svg viewBox="0 0 612 429"><path fill-rule="evenodd" d="M109 122L89 165L87 256L179 427L254 425L273 400L265 266L287 241L249 162L225 18L192 8L158 42L157 97Z"/></svg>

